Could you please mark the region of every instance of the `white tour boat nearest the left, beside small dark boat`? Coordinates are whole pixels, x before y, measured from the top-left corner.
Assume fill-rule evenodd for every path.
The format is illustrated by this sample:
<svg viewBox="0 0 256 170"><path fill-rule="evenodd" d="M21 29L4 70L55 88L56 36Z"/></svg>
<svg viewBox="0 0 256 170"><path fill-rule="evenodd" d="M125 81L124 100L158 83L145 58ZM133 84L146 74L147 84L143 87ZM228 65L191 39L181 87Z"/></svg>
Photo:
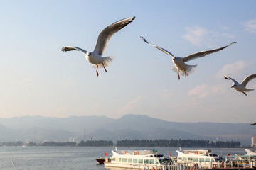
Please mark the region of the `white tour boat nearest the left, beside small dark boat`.
<svg viewBox="0 0 256 170"><path fill-rule="evenodd" d="M171 159L153 150L112 150L112 157L105 162L105 168L160 169L162 165L171 165Z"/></svg>

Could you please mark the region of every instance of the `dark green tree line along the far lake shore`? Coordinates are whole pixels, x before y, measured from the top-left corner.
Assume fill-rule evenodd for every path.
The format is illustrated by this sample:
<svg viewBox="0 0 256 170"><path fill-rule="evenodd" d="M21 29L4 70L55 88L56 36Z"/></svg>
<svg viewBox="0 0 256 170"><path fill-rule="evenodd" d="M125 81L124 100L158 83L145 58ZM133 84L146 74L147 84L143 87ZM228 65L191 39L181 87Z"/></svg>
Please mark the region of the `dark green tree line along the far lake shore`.
<svg viewBox="0 0 256 170"><path fill-rule="evenodd" d="M241 147L236 141L210 140L87 140L80 142L1 142L1 146L60 146L60 147Z"/></svg>

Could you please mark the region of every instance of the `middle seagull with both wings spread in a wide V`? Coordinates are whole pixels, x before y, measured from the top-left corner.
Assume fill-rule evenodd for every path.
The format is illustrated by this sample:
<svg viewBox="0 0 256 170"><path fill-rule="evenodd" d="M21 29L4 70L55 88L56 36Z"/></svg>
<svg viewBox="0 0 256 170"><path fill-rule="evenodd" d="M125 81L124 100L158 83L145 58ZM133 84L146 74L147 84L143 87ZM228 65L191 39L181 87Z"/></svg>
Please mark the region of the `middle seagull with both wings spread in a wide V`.
<svg viewBox="0 0 256 170"><path fill-rule="evenodd" d="M196 69L197 65L188 65L188 64L185 64L185 62L188 62L189 60L193 60L193 59L196 59L199 57L205 57L206 55L210 55L213 52L218 52L220 50L223 50L225 47L228 47L228 46L236 43L236 42L232 42L229 45L226 45L224 47L220 47L217 49L196 52L191 55L187 55L186 57L176 57L176 56L174 57L174 55L172 55L171 52L165 50L162 47L159 47L159 46L149 43L143 37L141 37L141 38L142 38L142 40L144 40L144 42L148 43L149 45L152 45L153 47L156 47L158 50L161 50L162 52L166 53L166 55L169 55L172 57L172 61L174 62L174 67L173 66L170 66L170 67L171 67L171 70L173 70L174 72L176 72L178 74L178 79L180 79L180 76L179 76L180 73L182 76L185 75L185 77L186 77Z"/></svg>

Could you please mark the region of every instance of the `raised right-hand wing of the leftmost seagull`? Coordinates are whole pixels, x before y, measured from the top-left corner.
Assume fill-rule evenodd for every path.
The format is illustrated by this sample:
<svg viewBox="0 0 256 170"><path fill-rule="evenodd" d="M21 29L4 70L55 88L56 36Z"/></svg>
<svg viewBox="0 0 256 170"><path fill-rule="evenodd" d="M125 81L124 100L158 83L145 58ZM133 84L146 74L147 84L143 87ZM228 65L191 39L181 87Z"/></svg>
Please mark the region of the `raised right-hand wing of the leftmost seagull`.
<svg viewBox="0 0 256 170"><path fill-rule="evenodd" d="M108 42L108 40L110 40L112 35L114 35L114 33L117 33L117 31L119 31L122 28L124 28L125 26L127 26L129 23L132 23L134 18L135 18L135 16L129 17L129 18L124 18L124 19L117 21L115 23L112 23L110 26L107 26L106 28L104 28L98 35L94 52L97 52L98 55L102 55L107 47L107 42Z"/></svg>

